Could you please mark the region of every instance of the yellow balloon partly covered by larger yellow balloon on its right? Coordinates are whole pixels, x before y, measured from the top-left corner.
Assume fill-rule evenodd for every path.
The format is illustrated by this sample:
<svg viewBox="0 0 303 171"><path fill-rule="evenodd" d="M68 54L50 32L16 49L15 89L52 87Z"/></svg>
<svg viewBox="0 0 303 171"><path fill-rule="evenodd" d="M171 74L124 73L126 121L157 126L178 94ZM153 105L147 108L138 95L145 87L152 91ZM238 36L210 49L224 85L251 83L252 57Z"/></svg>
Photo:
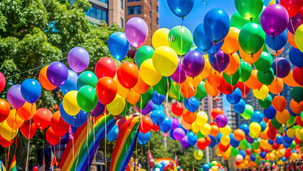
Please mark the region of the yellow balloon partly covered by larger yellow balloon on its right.
<svg viewBox="0 0 303 171"><path fill-rule="evenodd" d="M142 80L149 86L155 86L161 80L162 76L154 68L153 61L151 58L141 63L139 75Z"/></svg>

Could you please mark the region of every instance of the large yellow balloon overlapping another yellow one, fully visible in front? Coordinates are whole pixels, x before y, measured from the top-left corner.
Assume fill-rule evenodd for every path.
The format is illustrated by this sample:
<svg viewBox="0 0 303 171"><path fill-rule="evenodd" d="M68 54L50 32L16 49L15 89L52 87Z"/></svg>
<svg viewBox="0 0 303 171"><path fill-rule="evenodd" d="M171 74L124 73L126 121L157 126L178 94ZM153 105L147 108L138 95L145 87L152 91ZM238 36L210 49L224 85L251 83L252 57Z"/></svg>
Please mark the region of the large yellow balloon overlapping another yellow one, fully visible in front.
<svg viewBox="0 0 303 171"><path fill-rule="evenodd" d="M178 56L174 49L168 46L156 48L152 55L152 63L162 76L171 76L178 67Z"/></svg>

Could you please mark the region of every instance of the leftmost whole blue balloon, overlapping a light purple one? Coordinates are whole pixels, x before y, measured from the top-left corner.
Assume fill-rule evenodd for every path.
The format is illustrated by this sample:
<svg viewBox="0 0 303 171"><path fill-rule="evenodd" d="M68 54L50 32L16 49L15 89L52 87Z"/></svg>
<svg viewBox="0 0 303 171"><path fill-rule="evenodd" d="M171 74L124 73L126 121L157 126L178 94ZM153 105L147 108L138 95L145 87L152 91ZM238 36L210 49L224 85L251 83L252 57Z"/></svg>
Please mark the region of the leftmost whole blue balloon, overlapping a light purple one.
<svg viewBox="0 0 303 171"><path fill-rule="evenodd" d="M21 84L21 95L28 103L35 103L41 95L41 85L33 78L28 78Z"/></svg>

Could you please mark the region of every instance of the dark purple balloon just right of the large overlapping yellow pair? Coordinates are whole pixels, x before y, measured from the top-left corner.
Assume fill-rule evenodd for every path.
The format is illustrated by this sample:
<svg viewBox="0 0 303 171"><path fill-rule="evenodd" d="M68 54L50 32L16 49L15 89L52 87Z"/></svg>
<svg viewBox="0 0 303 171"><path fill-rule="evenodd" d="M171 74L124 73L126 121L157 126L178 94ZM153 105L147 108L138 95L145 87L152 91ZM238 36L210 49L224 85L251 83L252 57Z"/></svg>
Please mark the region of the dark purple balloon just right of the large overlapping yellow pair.
<svg viewBox="0 0 303 171"><path fill-rule="evenodd" d="M187 76L198 76L204 68L204 58L198 51L189 51L183 58L182 68Z"/></svg>

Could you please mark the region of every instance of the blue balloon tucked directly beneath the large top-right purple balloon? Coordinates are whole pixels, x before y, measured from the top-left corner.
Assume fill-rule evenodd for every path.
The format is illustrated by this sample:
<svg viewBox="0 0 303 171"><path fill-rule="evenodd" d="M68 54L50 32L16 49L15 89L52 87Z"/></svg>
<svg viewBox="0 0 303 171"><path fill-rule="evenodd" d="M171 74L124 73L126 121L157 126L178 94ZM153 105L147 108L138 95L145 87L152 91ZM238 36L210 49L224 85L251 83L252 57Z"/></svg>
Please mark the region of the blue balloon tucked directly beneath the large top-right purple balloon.
<svg viewBox="0 0 303 171"><path fill-rule="evenodd" d="M278 36L269 36L265 35L265 43L267 44L268 47L270 47L272 50L280 50L285 46L287 42L287 32L283 31L280 33Z"/></svg>

